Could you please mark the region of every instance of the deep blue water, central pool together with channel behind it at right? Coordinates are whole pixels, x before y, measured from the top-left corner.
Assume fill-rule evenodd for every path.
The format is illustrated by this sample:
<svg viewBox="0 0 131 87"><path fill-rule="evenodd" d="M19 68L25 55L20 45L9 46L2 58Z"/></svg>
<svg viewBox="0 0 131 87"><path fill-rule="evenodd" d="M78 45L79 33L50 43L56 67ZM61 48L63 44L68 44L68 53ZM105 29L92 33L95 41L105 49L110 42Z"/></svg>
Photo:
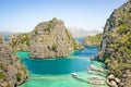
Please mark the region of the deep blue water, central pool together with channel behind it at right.
<svg viewBox="0 0 131 87"><path fill-rule="evenodd" d="M23 55L26 52L17 52L19 55ZM70 74L72 72L85 71L85 67L91 64L90 61L85 61L90 57L96 55L96 47L86 47L84 50L79 50L72 53L68 58L58 59L29 59L29 55L21 57L22 62L25 63L29 73L33 74ZM27 59L25 59L28 57ZM75 59L72 59L75 58ZM85 60L83 60L83 58Z"/></svg>

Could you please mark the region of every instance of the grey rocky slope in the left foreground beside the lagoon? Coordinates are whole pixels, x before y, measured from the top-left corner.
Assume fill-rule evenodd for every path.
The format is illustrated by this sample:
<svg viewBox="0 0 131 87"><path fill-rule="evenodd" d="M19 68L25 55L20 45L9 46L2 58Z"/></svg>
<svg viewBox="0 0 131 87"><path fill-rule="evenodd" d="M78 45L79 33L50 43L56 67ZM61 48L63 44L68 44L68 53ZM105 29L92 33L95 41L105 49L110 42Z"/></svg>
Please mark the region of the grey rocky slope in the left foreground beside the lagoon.
<svg viewBox="0 0 131 87"><path fill-rule="evenodd" d="M0 87L15 87L27 78L27 71L0 38Z"/></svg>

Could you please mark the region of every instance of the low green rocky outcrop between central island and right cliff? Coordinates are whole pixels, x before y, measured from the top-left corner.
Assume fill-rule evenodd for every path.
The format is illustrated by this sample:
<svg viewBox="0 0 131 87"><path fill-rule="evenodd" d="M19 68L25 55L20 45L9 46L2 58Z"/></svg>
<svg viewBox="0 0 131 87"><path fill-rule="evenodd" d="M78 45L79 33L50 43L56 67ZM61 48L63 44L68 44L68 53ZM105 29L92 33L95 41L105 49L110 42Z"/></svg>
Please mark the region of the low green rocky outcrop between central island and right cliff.
<svg viewBox="0 0 131 87"><path fill-rule="evenodd" d="M84 37L83 45L84 46L100 46L102 34L97 34L94 36Z"/></svg>

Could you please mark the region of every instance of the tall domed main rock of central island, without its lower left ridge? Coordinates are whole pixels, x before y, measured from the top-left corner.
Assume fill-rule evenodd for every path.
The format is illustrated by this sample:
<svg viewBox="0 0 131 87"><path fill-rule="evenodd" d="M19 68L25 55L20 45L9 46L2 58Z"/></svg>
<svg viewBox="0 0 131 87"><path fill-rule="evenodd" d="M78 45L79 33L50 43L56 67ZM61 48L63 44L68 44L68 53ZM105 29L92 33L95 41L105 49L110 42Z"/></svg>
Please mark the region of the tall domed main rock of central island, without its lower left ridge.
<svg viewBox="0 0 131 87"><path fill-rule="evenodd" d="M79 48L63 22L57 18L38 24L31 33L31 58L68 57Z"/></svg>

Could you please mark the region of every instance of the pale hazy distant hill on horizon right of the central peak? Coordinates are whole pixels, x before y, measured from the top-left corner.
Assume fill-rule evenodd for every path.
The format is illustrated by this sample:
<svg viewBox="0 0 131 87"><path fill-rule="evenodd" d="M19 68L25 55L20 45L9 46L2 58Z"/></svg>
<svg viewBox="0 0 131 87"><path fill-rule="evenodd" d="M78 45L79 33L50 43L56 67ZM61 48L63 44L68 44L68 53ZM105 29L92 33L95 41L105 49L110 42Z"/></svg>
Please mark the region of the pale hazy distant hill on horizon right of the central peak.
<svg viewBox="0 0 131 87"><path fill-rule="evenodd" d="M68 29L73 37L93 36L100 33L99 30L85 30L81 27L68 27Z"/></svg>

